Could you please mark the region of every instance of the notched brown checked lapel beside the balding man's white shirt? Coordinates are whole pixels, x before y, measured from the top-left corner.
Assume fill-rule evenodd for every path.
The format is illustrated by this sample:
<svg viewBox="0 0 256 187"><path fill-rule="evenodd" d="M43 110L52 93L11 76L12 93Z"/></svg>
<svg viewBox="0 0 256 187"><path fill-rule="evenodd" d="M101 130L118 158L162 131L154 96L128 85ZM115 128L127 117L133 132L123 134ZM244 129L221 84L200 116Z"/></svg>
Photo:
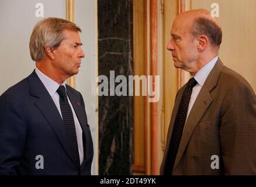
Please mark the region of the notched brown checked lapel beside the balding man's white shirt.
<svg viewBox="0 0 256 187"><path fill-rule="evenodd" d="M212 103L213 99L212 99L212 96L210 95L210 91L212 91L212 89L216 86L222 67L223 67L223 63L222 61L220 61L220 58L218 58L215 66L213 67L209 76L206 78L205 84L203 84L198 94L198 97L196 98L196 101L191 109L191 112L189 113L188 119L184 127L181 143L179 144L179 149L178 149L178 153L177 153L177 157L176 157L173 169L177 167L179 161L181 160L181 157L184 154L185 148L188 145L188 142L193 134L193 130L195 129L196 124L198 124L199 120L202 118L206 109L209 107L210 103ZM183 91L179 96L180 98L182 97L182 94L183 94Z"/></svg>

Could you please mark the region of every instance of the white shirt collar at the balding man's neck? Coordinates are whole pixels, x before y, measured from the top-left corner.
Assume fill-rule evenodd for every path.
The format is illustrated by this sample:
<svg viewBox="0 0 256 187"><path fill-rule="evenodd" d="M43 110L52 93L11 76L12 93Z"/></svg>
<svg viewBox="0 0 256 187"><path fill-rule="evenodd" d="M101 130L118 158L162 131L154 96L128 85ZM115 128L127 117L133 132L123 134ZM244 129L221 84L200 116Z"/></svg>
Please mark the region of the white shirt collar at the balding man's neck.
<svg viewBox="0 0 256 187"><path fill-rule="evenodd" d="M206 78L210 74L210 71L212 71L212 68L215 66L216 62L218 60L218 56L213 58L209 63L207 63L204 67L202 67L195 75L196 82L200 84L200 86L203 86L203 84L206 81Z"/></svg>

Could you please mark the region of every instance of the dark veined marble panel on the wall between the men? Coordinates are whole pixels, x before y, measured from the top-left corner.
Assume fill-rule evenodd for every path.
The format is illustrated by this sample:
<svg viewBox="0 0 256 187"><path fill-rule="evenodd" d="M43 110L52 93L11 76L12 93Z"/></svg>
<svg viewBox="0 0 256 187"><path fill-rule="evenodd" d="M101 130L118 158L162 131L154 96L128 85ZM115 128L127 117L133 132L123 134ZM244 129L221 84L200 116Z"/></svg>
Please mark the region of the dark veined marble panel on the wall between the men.
<svg viewBox="0 0 256 187"><path fill-rule="evenodd" d="M133 75L132 8L132 0L98 0L98 75L124 75L127 88ZM132 174L132 132L133 96L99 96L99 175Z"/></svg>

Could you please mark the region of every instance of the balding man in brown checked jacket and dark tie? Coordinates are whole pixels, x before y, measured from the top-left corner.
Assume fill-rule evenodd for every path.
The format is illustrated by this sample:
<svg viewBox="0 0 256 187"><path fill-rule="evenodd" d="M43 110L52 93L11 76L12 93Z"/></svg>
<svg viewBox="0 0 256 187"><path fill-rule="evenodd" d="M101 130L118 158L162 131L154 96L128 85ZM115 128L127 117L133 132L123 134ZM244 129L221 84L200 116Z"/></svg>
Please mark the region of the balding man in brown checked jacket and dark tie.
<svg viewBox="0 0 256 187"><path fill-rule="evenodd" d="M161 175L256 174L256 96L218 57L220 26L205 10L174 20L174 65L192 78L179 89Z"/></svg>

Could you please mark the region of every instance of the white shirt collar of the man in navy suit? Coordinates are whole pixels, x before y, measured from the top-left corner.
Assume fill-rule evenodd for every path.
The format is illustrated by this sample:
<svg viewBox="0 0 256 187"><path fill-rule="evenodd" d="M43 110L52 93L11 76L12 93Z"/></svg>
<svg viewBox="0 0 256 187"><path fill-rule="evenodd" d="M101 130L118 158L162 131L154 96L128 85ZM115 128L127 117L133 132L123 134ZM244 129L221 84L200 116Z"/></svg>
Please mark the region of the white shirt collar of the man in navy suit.
<svg viewBox="0 0 256 187"><path fill-rule="evenodd" d="M43 82L43 85L46 87L49 94L53 96L53 94L57 91L60 85L57 82L53 81L53 79L47 77L47 75L44 75L43 72L41 72L38 68L36 68L35 72L38 75L41 82ZM63 84L61 85L65 86L66 88L65 82L63 82Z"/></svg>

